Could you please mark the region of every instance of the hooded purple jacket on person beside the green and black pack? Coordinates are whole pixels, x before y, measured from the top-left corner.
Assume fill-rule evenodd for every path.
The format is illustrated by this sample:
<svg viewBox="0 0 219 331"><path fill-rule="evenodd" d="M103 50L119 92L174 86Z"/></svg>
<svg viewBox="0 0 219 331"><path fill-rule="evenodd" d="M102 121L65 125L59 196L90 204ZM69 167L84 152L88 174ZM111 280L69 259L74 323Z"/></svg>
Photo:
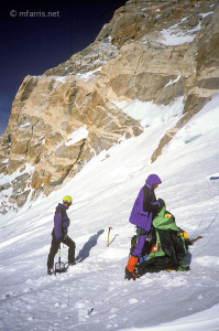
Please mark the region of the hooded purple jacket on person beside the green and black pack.
<svg viewBox="0 0 219 331"><path fill-rule="evenodd" d="M139 192L129 218L130 223L146 232L150 231L152 221L161 207L161 203L156 201L153 190L154 184L161 183L158 175L150 174L147 177L145 185Z"/></svg>

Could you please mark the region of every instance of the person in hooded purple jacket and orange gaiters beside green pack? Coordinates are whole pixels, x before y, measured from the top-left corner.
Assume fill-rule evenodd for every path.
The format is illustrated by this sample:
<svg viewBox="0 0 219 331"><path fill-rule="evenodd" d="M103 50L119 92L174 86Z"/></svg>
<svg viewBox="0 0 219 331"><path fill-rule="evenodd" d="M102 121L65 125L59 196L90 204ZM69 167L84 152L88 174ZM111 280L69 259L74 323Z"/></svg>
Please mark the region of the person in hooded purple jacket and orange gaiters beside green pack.
<svg viewBox="0 0 219 331"><path fill-rule="evenodd" d="M135 248L132 252L125 267L125 278L128 279L135 279L138 277L135 266L139 261L139 257L141 256L144 242L151 231L152 221L160 212L163 204L162 200L156 200L154 193L154 190L158 188L158 184L161 183L162 181L157 174L150 174L146 179L145 185L140 190L134 202L129 221L136 225L140 229L140 236L138 237Z"/></svg>

